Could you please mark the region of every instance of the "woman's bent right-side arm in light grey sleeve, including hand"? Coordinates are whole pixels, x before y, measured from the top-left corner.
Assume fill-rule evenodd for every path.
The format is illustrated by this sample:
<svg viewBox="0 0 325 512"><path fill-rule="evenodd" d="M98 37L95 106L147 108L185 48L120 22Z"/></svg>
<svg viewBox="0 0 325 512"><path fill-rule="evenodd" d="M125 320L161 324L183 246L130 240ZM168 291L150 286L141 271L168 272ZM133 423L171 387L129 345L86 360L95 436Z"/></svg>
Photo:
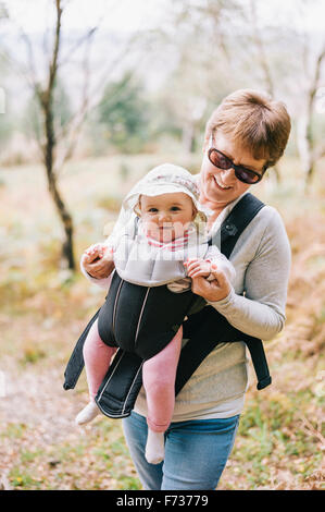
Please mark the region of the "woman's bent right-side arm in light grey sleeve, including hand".
<svg viewBox="0 0 325 512"><path fill-rule="evenodd" d="M284 223L273 210L255 256L246 269L245 296L236 294L224 276L216 276L218 287L204 290L202 296L237 329L268 340L285 325L290 260Z"/></svg>

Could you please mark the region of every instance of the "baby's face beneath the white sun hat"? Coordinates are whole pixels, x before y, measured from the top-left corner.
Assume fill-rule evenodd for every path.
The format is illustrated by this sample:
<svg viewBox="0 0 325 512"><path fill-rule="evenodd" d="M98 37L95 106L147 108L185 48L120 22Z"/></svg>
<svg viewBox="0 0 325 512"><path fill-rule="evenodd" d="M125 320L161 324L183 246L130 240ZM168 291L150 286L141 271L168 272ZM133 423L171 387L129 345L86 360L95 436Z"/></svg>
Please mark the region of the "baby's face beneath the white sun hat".
<svg viewBox="0 0 325 512"><path fill-rule="evenodd" d="M141 195L140 211L147 234L160 242L183 236L196 215L191 198L184 192Z"/></svg>

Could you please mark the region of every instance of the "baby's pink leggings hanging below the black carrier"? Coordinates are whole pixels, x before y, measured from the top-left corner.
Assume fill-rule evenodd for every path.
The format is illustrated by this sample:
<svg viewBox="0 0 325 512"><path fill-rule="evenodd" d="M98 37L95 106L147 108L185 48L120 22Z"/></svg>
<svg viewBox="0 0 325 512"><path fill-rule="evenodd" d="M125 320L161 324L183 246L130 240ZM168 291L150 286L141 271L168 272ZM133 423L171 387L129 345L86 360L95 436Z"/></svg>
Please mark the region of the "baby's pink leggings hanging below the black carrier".
<svg viewBox="0 0 325 512"><path fill-rule="evenodd" d="M147 359L142 367L148 405L147 423L155 432L164 432L172 420L182 334L183 328L180 327L173 340L161 352ZM84 359L91 400L97 394L115 351L115 348L105 345L101 340L96 320L84 344Z"/></svg>

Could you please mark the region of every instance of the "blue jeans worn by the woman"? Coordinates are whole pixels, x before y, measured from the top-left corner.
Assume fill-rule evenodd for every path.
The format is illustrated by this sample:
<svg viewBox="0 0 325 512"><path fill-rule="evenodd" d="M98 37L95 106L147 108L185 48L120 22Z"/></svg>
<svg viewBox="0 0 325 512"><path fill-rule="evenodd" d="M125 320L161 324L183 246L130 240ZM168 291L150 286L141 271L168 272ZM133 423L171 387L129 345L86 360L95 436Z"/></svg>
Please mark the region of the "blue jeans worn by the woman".
<svg viewBox="0 0 325 512"><path fill-rule="evenodd" d="M125 439L147 490L214 490L234 446L239 415L172 423L165 432L165 460L145 458L147 422L133 412L123 419Z"/></svg>

